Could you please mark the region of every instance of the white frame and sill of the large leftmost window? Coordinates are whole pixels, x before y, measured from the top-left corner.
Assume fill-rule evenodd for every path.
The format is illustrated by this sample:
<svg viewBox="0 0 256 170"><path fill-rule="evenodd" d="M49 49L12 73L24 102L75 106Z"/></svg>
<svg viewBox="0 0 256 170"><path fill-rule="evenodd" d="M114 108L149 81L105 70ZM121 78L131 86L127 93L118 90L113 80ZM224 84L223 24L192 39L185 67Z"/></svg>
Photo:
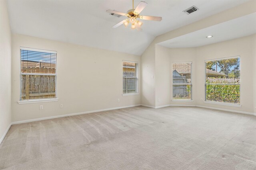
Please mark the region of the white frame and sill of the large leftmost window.
<svg viewBox="0 0 256 170"><path fill-rule="evenodd" d="M56 71L55 71L55 98L42 98L42 99L28 99L28 100L21 100L20 96L22 93L22 72L21 72L21 50L29 50L29 51L37 51L37 52L45 52L45 53L56 53ZM57 51L45 50L45 49L36 49L36 48L28 48L28 47L20 47L20 62L19 62L19 69L20 69L20 96L18 104L31 104L31 103L42 103L42 102L58 102L57 96ZM34 75L47 75L47 74L40 74L35 73Z"/></svg>

